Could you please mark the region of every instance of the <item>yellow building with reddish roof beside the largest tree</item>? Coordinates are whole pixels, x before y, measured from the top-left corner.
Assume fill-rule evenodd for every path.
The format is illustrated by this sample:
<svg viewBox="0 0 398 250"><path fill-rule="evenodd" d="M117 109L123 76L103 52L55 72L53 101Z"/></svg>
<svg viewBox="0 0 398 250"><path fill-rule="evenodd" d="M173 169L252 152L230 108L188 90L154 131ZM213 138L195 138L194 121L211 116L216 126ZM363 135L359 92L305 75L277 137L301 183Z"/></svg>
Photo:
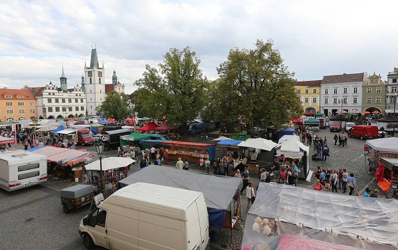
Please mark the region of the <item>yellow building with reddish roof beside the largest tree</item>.
<svg viewBox="0 0 398 250"><path fill-rule="evenodd" d="M305 112L319 112L320 83L322 80L301 81L295 85L296 93L300 95L301 105Z"/></svg>

